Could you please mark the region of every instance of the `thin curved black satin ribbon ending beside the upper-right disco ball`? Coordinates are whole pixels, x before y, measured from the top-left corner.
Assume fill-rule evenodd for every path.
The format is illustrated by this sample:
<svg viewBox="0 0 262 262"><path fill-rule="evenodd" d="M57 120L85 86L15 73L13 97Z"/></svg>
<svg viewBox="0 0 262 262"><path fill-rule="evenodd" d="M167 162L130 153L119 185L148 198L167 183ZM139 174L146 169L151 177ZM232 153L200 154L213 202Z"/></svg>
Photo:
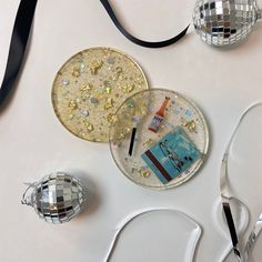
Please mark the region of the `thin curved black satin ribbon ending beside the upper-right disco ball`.
<svg viewBox="0 0 262 262"><path fill-rule="evenodd" d="M159 41L159 42L148 42L148 41L143 41L141 39L138 39L135 37L133 37L131 33L129 33L124 27L122 26L122 23L119 21L119 19L117 18L112 7L110 6L109 1L108 0L100 0L100 2L103 4L103 7L105 8L109 17L112 19L114 26L119 29L119 31L127 38L129 39L130 41L132 41L133 43L135 44L139 44L141 47L144 47L144 48L164 48L164 47L168 47L170 44L173 44L175 42L178 42L180 39L182 39L187 32L188 32L188 29L190 27L190 24L181 32L179 33L178 36L171 38L171 39L168 39L168 40L163 40L163 41Z"/></svg>

